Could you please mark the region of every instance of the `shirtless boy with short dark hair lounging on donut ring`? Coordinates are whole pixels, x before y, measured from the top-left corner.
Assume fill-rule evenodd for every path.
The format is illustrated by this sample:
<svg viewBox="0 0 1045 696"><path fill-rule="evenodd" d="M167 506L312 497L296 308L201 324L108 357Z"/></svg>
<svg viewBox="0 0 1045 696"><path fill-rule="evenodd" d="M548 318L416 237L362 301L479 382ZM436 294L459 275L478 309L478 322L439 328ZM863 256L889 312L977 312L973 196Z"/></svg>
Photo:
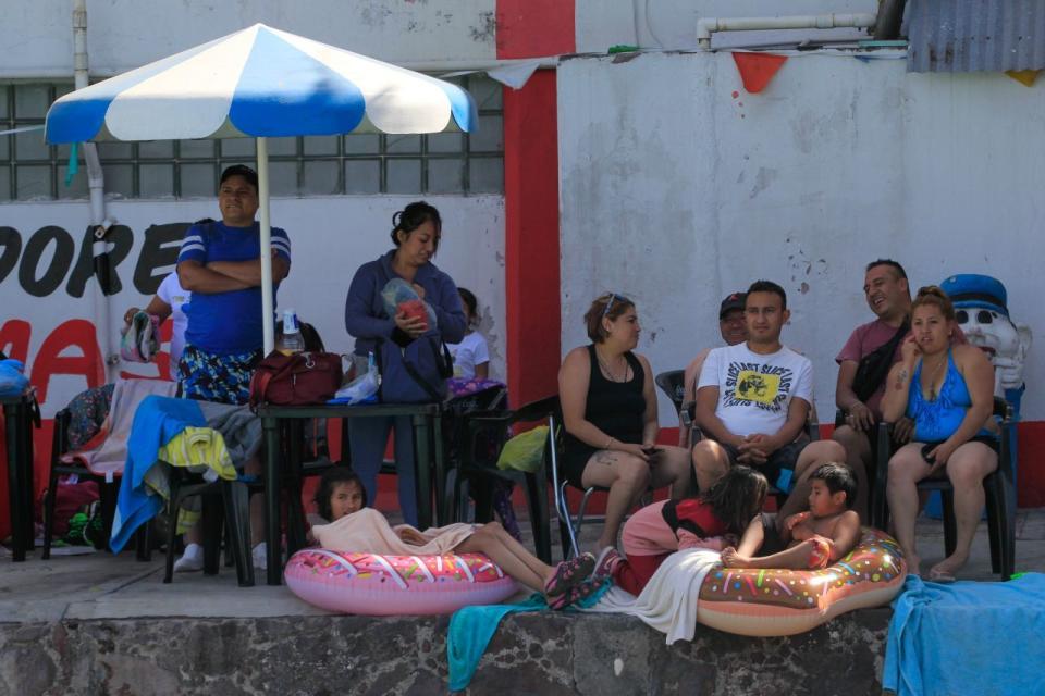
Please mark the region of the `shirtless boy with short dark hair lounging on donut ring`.
<svg viewBox="0 0 1045 696"><path fill-rule="evenodd" d="M845 464L822 464L810 477L809 511L789 515L780 533L787 548L754 557L765 535L762 517L748 525L737 548L722 551L726 568L819 570L843 558L860 539L860 515L851 510L857 478Z"/></svg>

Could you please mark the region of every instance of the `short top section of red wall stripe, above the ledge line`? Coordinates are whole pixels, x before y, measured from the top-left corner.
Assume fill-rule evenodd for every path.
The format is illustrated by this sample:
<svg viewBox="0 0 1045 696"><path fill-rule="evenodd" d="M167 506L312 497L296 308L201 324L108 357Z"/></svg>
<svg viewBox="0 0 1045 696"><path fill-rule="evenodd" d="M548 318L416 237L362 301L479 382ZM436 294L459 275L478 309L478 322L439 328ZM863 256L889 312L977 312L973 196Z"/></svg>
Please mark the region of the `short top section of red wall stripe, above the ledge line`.
<svg viewBox="0 0 1045 696"><path fill-rule="evenodd" d="M497 58L573 53L574 0L497 0Z"/></svg>

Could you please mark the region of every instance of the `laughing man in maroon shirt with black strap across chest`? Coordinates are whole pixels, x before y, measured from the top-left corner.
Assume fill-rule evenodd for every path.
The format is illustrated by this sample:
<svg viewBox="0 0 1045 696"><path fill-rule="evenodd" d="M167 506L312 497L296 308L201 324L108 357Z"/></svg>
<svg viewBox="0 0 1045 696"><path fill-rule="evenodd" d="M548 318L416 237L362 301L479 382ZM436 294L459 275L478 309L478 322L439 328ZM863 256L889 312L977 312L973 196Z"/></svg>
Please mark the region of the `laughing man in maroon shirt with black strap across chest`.
<svg viewBox="0 0 1045 696"><path fill-rule="evenodd" d="M910 333L911 290L907 272L892 259L872 261L864 274L863 294L875 320L857 326L835 358L835 405L845 414L845 422L838 424L832 439L846 448L846 463L859 484L855 509L861 519L866 519L866 472L874 465L871 433L882 420L885 377L900 359L900 344ZM960 330L955 332L952 343L966 343ZM894 442L908 442L913 431L910 419L900 419L893 430Z"/></svg>

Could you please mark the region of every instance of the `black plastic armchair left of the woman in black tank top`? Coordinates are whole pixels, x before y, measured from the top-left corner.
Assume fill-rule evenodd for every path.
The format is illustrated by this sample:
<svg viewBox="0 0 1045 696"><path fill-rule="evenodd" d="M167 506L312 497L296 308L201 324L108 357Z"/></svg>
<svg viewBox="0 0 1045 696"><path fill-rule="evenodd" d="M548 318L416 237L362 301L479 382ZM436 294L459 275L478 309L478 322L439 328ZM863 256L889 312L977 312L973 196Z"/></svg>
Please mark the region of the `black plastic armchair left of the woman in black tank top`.
<svg viewBox="0 0 1045 696"><path fill-rule="evenodd" d="M464 521L467 514L468 496L465 486L471 487L476 498L476 520L485 522L493 518L493 483L521 482L526 490L533 546L537 556L551 563L552 542L549 532L548 477L544 467L537 472L501 470L497 458L505 443L512 437L516 423L546 421L558 409L558 397L532 401L515 410L479 410L462 414L463 439L458 444L457 463L447 472L445 509L455 521ZM546 465L545 448L545 465Z"/></svg>

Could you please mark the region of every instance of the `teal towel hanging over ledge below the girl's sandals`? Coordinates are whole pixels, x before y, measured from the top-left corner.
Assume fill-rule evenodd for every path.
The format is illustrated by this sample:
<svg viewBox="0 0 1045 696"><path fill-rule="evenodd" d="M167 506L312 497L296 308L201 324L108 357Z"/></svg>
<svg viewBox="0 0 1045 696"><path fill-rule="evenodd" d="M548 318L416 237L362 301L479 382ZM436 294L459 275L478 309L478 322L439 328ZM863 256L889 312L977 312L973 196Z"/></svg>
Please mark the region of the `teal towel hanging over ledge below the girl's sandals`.
<svg viewBox="0 0 1045 696"><path fill-rule="evenodd" d="M612 587L610 582L603 583L578 604L581 607L591 607ZM460 692L468 688L471 678L476 675L479 660L487 651L493 634L497 632L501 620L509 613L524 611L551 611L544 595L533 593L526 601L517 605L481 605L463 607L450 618L450 631L446 634L446 662L450 667L450 691ZM575 611L566 607L565 611Z"/></svg>

